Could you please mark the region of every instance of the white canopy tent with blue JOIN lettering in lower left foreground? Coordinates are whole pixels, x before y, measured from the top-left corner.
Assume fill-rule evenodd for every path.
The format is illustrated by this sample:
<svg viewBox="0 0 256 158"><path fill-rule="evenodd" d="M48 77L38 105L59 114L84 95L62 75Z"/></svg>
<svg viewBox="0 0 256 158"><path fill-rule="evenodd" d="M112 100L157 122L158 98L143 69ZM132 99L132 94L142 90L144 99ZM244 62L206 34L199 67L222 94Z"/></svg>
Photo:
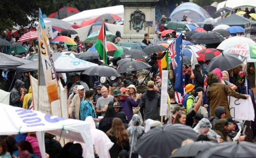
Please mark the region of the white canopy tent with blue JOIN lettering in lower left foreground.
<svg viewBox="0 0 256 158"><path fill-rule="evenodd" d="M13 135L37 131L37 139L42 158L45 157L44 133L62 138L84 142L88 146L91 157L94 157L93 140L90 124L80 120L65 119L0 103L0 135Z"/></svg>

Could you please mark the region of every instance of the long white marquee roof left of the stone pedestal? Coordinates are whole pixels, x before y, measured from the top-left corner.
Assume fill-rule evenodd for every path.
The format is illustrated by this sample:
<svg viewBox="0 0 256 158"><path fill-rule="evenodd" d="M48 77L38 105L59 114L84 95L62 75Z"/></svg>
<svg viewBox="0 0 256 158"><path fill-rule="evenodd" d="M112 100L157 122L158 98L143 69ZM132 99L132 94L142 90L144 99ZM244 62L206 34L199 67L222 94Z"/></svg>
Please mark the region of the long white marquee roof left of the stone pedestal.
<svg viewBox="0 0 256 158"><path fill-rule="evenodd" d="M62 20L70 22L70 23L76 22L77 24L81 24L83 20L93 19L93 18L96 18L96 17L98 17L102 14L106 14L106 13L114 14L123 19L124 18L124 6L116 5L116 6L109 6L109 7L104 7L104 8L86 10L86 11L77 13L75 15L72 15L72 16L62 19Z"/></svg>

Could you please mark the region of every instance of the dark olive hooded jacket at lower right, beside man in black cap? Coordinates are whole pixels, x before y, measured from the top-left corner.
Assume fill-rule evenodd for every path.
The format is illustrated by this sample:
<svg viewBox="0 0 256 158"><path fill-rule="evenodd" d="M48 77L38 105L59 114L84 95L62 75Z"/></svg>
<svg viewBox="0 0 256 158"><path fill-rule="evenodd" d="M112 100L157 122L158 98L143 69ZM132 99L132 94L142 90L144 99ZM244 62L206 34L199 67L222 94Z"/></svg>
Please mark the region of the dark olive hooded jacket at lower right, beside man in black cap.
<svg viewBox="0 0 256 158"><path fill-rule="evenodd" d="M227 119L219 119L214 124L214 131L221 136L221 139L227 141L228 131L224 129L224 125L227 123Z"/></svg>

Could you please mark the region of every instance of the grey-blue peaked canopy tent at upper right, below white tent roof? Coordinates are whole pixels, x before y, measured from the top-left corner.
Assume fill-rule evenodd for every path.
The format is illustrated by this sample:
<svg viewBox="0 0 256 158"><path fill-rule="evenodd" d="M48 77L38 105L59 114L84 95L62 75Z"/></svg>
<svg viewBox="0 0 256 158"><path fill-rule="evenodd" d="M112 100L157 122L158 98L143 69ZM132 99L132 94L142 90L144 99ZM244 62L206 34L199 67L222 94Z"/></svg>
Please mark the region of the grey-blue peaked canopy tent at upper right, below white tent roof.
<svg viewBox="0 0 256 158"><path fill-rule="evenodd" d="M226 24L229 26L241 26L244 27L244 24L246 22L251 22L252 26L256 26L256 21L244 18L242 16L232 14L229 17L226 17L218 22L213 23L212 25L220 25L220 24Z"/></svg>

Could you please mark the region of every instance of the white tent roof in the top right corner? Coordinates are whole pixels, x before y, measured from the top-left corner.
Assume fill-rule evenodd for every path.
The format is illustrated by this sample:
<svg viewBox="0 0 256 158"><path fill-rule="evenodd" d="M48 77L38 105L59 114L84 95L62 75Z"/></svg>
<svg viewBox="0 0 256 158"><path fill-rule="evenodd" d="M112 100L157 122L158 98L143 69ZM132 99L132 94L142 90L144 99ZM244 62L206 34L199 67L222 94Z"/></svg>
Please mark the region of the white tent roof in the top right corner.
<svg viewBox="0 0 256 158"><path fill-rule="evenodd" d="M217 10L224 6L228 6L233 9L243 7L243 6L256 7L256 1L254 1L254 0L227 0L227 1L223 1L221 3L218 3Z"/></svg>

